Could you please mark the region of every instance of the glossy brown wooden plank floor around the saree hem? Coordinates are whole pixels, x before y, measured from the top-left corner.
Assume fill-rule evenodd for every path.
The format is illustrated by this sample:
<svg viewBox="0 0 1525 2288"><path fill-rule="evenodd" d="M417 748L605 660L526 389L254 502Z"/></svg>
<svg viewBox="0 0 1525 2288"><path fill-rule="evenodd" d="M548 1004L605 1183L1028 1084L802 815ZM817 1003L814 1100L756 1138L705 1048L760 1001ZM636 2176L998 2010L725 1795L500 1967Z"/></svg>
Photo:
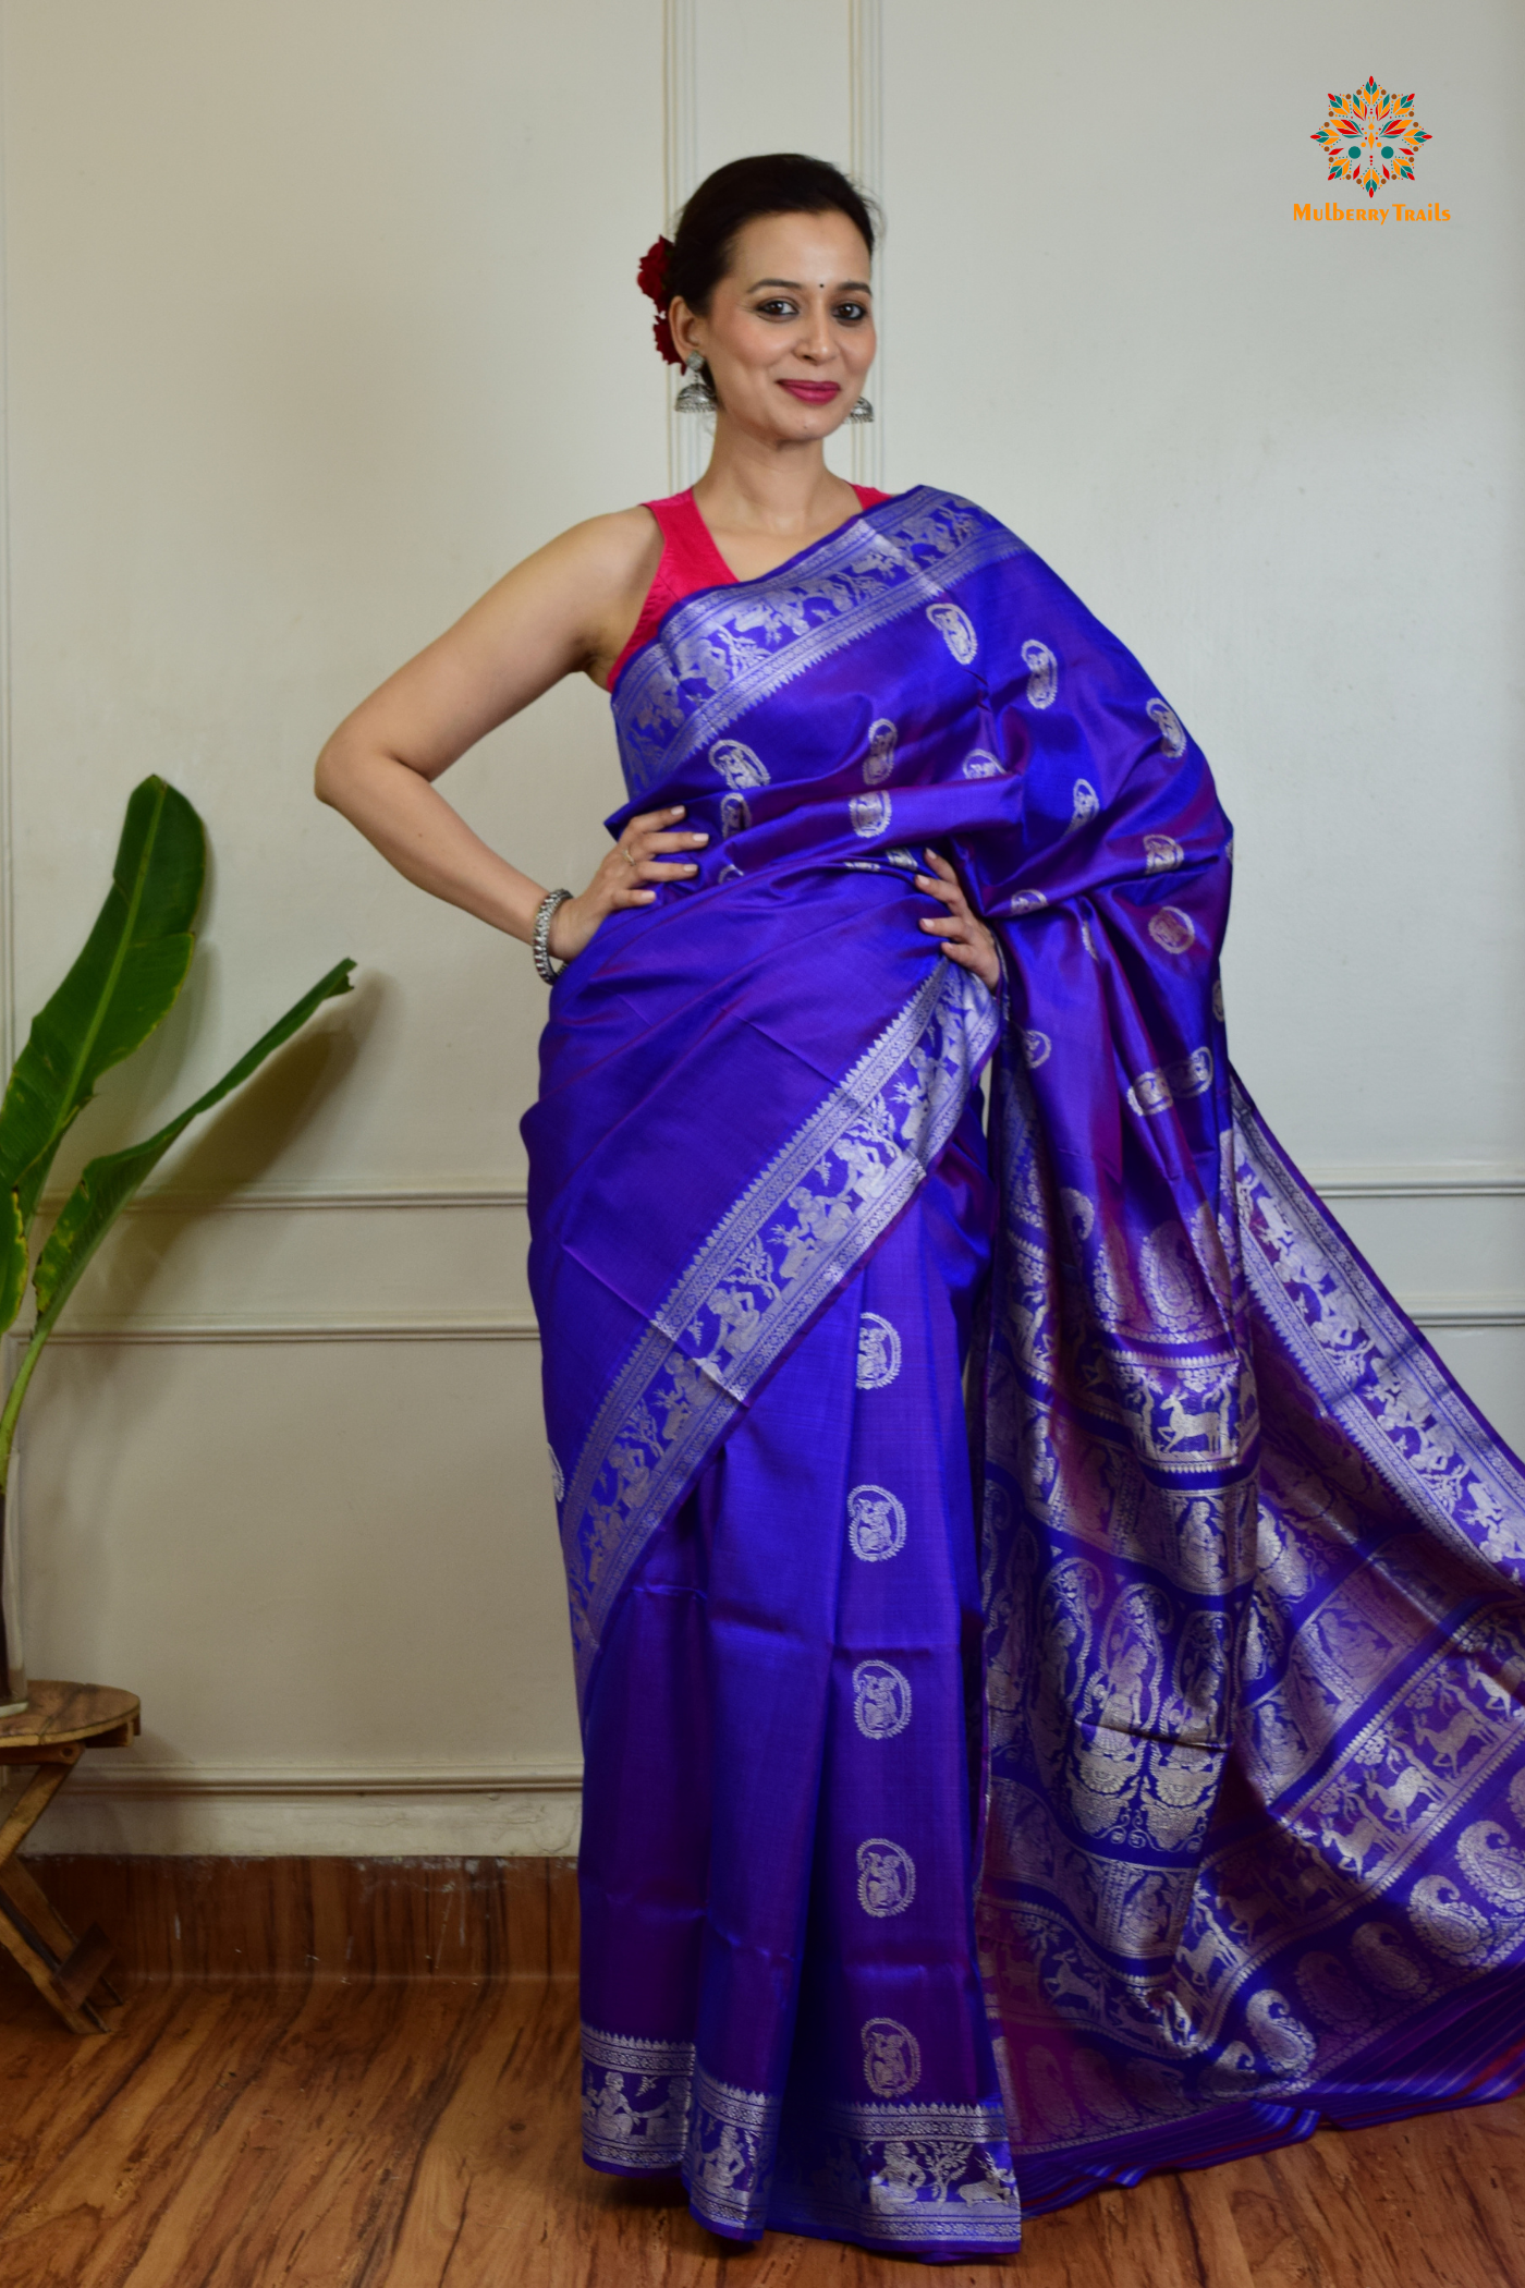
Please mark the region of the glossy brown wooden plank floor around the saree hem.
<svg viewBox="0 0 1525 2288"><path fill-rule="evenodd" d="M2 2288L894 2288L576 2142L565 1977L158 1981L78 2041L0 1963ZM1525 2098L1159 2176L960 2288L1525 2288Z"/></svg>

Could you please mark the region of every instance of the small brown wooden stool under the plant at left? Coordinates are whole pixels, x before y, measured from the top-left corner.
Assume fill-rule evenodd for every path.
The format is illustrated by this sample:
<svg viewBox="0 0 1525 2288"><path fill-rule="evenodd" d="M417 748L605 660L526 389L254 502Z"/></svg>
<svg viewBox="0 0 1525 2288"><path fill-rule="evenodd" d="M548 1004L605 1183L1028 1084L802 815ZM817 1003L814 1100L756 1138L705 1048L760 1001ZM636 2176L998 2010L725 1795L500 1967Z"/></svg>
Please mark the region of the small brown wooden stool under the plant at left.
<svg viewBox="0 0 1525 2288"><path fill-rule="evenodd" d="M37 1764L11 1817L0 1826L0 1945L7 1947L66 2027L75 2034L110 2034L112 2025L89 2000L91 1986L121 2004L114 1986L101 1977L112 1959L112 1943L98 1922L85 1938L53 1913L18 1846L87 1748L126 1748L137 1739L139 1707L135 1693L110 1684L32 1682L25 1709L0 1716L0 1764Z"/></svg>

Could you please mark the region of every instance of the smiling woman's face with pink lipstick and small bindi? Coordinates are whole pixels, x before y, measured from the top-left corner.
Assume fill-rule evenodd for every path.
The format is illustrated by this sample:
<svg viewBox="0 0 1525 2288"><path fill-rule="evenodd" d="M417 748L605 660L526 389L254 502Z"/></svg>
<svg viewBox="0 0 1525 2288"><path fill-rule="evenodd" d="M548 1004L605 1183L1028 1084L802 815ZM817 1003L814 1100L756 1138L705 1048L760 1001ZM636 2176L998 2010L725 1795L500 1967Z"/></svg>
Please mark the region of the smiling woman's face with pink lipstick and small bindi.
<svg viewBox="0 0 1525 2288"><path fill-rule="evenodd" d="M825 215L759 215L736 236L709 311L670 311L684 357L709 359L727 419L777 444L830 437L873 364L869 249Z"/></svg>

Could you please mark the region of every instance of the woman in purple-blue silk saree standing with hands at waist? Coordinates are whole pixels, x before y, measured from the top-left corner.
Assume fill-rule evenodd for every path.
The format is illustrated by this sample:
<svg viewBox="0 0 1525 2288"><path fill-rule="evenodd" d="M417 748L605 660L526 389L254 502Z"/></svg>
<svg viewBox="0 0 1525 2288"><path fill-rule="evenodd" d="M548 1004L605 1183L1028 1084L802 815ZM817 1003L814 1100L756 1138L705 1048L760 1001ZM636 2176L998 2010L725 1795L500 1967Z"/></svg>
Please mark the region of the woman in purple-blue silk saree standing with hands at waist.
<svg viewBox="0 0 1525 2288"><path fill-rule="evenodd" d="M1175 712L995 517L825 469L871 252L816 160L711 176L642 265L709 471L510 572L318 792L565 963L588 2158L953 2258L1518 2087L1525 1478L1230 1075ZM432 785L574 670L629 789L578 897Z"/></svg>

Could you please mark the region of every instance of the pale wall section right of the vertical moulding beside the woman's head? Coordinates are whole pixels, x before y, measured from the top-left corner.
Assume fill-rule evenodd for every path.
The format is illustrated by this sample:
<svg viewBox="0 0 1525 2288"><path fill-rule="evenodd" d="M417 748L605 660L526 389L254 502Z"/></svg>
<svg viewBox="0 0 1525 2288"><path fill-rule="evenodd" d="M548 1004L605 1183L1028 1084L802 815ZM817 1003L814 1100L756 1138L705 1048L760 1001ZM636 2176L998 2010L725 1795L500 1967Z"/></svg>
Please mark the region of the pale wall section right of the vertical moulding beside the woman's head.
<svg viewBox="0 0 1525 2288"><path fill-rule="evenodd" d="M1207 748L1235 1062L1525 1444L1525 14L885 0L885 57L894 483L997 508ZM1294 222L1367 73L1450 222Z"/></svg>

